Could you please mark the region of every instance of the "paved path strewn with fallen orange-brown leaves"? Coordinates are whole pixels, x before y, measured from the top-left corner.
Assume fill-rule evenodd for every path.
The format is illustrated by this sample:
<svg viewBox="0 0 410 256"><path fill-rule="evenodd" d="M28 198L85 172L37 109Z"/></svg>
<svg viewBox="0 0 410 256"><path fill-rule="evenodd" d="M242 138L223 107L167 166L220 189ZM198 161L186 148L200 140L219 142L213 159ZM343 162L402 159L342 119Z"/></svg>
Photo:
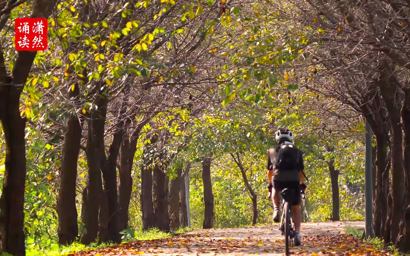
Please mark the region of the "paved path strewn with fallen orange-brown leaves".
<svg viewBox="0 0 410 256"><path fill-rule="evenodd" d="M364 229L364 222L303 223L303 245L292 247L298 255L383 255L372 246L345 233L346 225ZM283 255L284 237L278 225L230 229L194 230L182 236L153 241L137 241L103 250L75 255L136 255L147 256L242 256Z"/></svg>

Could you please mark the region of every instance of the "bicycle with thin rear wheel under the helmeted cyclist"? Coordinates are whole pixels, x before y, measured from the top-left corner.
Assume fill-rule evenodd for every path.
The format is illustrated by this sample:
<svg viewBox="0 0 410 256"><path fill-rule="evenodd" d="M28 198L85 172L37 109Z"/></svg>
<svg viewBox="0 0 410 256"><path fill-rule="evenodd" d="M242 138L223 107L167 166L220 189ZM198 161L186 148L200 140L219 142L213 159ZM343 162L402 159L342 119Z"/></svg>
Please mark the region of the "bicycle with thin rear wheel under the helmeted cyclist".
<svg viewBox="0 0 410 256"><path fill-rule="evenodd" d="M293 237L295 235L295 226L293 224L292 216L291 216L291 209L289 206L289 202L293 201L296 195L294 195L295 190L285 188L280 192L282 196L282 219L280 220L280 228L279 230L282 231L282 235L285 236L285 255L289 256L289 242L292 241L293 245ZM305 192L301 191L302 198L305 199Z"/></svg>

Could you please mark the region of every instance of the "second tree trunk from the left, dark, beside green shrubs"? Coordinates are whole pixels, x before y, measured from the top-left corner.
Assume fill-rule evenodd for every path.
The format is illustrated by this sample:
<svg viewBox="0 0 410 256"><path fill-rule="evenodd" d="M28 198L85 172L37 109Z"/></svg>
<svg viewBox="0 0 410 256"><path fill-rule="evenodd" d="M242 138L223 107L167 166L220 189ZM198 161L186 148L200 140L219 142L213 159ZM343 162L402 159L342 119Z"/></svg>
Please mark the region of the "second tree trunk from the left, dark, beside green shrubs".
<svg viewBox="0 0 410 256"><path fill-rule="evenodd" d="M68 97L80 103L80 88L68 90ZM77 161L80 153L82 120L77 113L70 113L67 130L64 134L62 161L60 168L60 186L57 199L58 238L61 245L69 245L78 236L77 206L75 205L75 184L77 183Z"/></svg>

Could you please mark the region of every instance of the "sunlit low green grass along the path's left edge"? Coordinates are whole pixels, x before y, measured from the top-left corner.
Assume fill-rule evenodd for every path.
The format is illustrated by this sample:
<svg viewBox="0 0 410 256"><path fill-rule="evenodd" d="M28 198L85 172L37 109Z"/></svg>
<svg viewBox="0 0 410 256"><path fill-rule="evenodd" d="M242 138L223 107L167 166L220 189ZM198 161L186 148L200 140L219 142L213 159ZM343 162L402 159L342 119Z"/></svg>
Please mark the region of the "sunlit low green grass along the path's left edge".
<svg viewBox="0 0 410 256"><path fill-rule="evenodd" d="M135 231L130 228L121 232L122 240L124 242L133 242L137 240L156 240L162 238L171 238L172 236L179 236L189 231L189 228L180 228L169 233L160 231L159 229L151 229L149 231ZM90 245L83 245L80 242L74 242L71 245L52 244L47 247L39 248L38 246L27 246L26 256L59 256L71 254L74 251L88 251L102 249L107 246L114 245L112 243L91 243Z"/></svg>

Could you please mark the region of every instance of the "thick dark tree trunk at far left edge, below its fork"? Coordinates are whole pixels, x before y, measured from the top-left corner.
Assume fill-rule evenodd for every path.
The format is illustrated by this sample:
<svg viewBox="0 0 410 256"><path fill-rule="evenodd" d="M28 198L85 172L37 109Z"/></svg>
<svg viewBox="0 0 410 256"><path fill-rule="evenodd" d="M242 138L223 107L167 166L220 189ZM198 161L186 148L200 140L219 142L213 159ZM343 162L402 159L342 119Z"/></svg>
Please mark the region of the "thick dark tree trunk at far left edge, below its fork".
<svg viewBox="0 0 410 256"><path fill-rule="evenodd" d="M20 91L17 86L1 86L0 120L6 140L6 161L0 199L0 249L12 255L25 255L23 207L26 118L20 116L19 100Z"/></svg>

